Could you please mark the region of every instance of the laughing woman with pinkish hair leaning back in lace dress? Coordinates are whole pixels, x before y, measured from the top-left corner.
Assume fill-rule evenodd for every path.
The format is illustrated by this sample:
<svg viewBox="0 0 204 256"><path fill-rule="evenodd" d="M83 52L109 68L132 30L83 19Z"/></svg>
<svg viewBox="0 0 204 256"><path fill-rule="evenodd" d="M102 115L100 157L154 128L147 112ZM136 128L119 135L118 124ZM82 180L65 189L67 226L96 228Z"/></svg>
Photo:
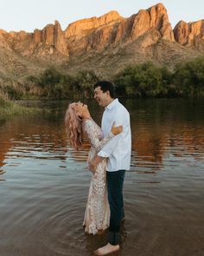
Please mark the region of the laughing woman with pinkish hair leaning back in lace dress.
<svg viewBox="0 0 204 256"><path fill-rule="evenodd" d="M73 148L81 148L83 135L86 135L91 144L88 161L92 160L107 141L114 135L123 131L122 126L112 125L112 131L102 140L102 131L92 120L87 105L81 102L69 104L66 112L65 123L67 135ZM110 220L110 208L106 192L106 160L101 161L96 167L89 188L83 226L86 233L102 233L108 226Z"/></svg>

